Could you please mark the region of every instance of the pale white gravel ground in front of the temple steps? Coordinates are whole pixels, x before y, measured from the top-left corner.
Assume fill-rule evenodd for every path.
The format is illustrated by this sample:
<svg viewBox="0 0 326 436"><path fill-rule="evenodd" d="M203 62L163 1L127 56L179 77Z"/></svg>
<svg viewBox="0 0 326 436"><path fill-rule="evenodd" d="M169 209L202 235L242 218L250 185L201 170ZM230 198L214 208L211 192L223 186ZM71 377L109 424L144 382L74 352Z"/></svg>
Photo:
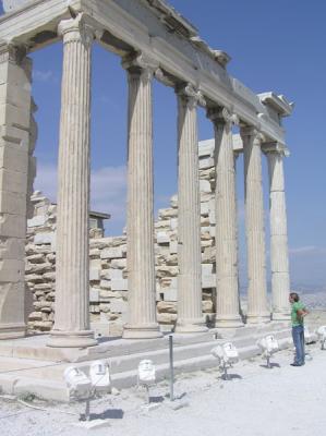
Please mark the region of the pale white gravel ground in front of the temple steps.
<svg viewBox="0 0 326 436"><path fill-rule="evenodd" d="M92 402L92 419L110 422L110 427L86 431L74 426L81 403L57 404L34 399L33 410L15 399L0 398L0 434L5 436L312 436L325 434L326 351L307 347L311 360L292 367L292 350L277 353L271 370L261 358L243 361L231 368L225 382L218 370L179 376L174 391L183 405L171 409L169 384L150 389L157 409L146 411L144 391L122 390ZM25 399L28 400L28 399ZM31 400L31 399L29 399Z"/></svg>

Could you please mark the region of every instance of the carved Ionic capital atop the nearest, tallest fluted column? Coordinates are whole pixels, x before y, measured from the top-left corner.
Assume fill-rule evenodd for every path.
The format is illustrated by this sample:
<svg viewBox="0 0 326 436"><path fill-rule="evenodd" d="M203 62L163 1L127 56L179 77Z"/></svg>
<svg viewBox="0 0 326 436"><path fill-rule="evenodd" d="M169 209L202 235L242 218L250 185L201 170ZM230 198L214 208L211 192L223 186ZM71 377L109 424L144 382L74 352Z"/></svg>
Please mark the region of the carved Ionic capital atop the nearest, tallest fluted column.
<svg viewBox="0 0 326 436"><path fill-rule="evenodd" d="M85 15L79 13L76 17L62 20L58 26L58 34L62 36L63 44L80 41L89 47L95 38L96 29L86 23Z"/></svg>

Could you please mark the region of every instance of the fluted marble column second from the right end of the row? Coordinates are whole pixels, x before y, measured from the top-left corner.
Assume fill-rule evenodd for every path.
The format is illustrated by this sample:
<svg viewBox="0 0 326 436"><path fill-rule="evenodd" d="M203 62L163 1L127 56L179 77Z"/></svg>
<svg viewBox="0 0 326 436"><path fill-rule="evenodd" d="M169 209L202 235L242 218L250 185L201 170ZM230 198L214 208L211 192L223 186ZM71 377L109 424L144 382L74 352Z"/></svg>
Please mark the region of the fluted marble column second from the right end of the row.
<svg viewBox="0 0 326 436"><path fill-rule="evenodd" d="M247 250L247 323L270 320L267 304L264 202L262 181L263 135L241 129L244 153L245 230Z"/></svg>

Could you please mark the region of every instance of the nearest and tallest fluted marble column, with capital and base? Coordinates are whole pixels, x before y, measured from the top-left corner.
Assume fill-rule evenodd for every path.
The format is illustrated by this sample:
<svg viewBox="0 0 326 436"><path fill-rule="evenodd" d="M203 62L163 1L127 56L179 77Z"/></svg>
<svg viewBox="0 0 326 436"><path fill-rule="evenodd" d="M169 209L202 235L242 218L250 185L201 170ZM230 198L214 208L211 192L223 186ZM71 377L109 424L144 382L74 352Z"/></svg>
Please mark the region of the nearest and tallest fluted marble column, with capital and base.
<svg viewBox="0 0 326 436"><path fill-rule="evenodd" d="M55 327L50 347L96 344L89 330L89 110L94 34L80 14L59 25L63 74L58 166Z"/></svg>

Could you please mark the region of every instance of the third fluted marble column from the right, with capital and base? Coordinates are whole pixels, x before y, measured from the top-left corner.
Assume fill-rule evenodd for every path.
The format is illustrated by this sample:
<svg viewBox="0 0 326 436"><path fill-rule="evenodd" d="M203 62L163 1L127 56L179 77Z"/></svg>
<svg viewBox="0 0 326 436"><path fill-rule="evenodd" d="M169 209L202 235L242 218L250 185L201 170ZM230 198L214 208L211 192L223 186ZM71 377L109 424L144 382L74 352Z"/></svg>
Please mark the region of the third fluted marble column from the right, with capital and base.
<svg viewBox="0 0 326 436"><path fill-rule="evenodd" d="M227 109L209 110L215 128L216 327L242 327L239 313L238 218L232 124Z"/></svg>

